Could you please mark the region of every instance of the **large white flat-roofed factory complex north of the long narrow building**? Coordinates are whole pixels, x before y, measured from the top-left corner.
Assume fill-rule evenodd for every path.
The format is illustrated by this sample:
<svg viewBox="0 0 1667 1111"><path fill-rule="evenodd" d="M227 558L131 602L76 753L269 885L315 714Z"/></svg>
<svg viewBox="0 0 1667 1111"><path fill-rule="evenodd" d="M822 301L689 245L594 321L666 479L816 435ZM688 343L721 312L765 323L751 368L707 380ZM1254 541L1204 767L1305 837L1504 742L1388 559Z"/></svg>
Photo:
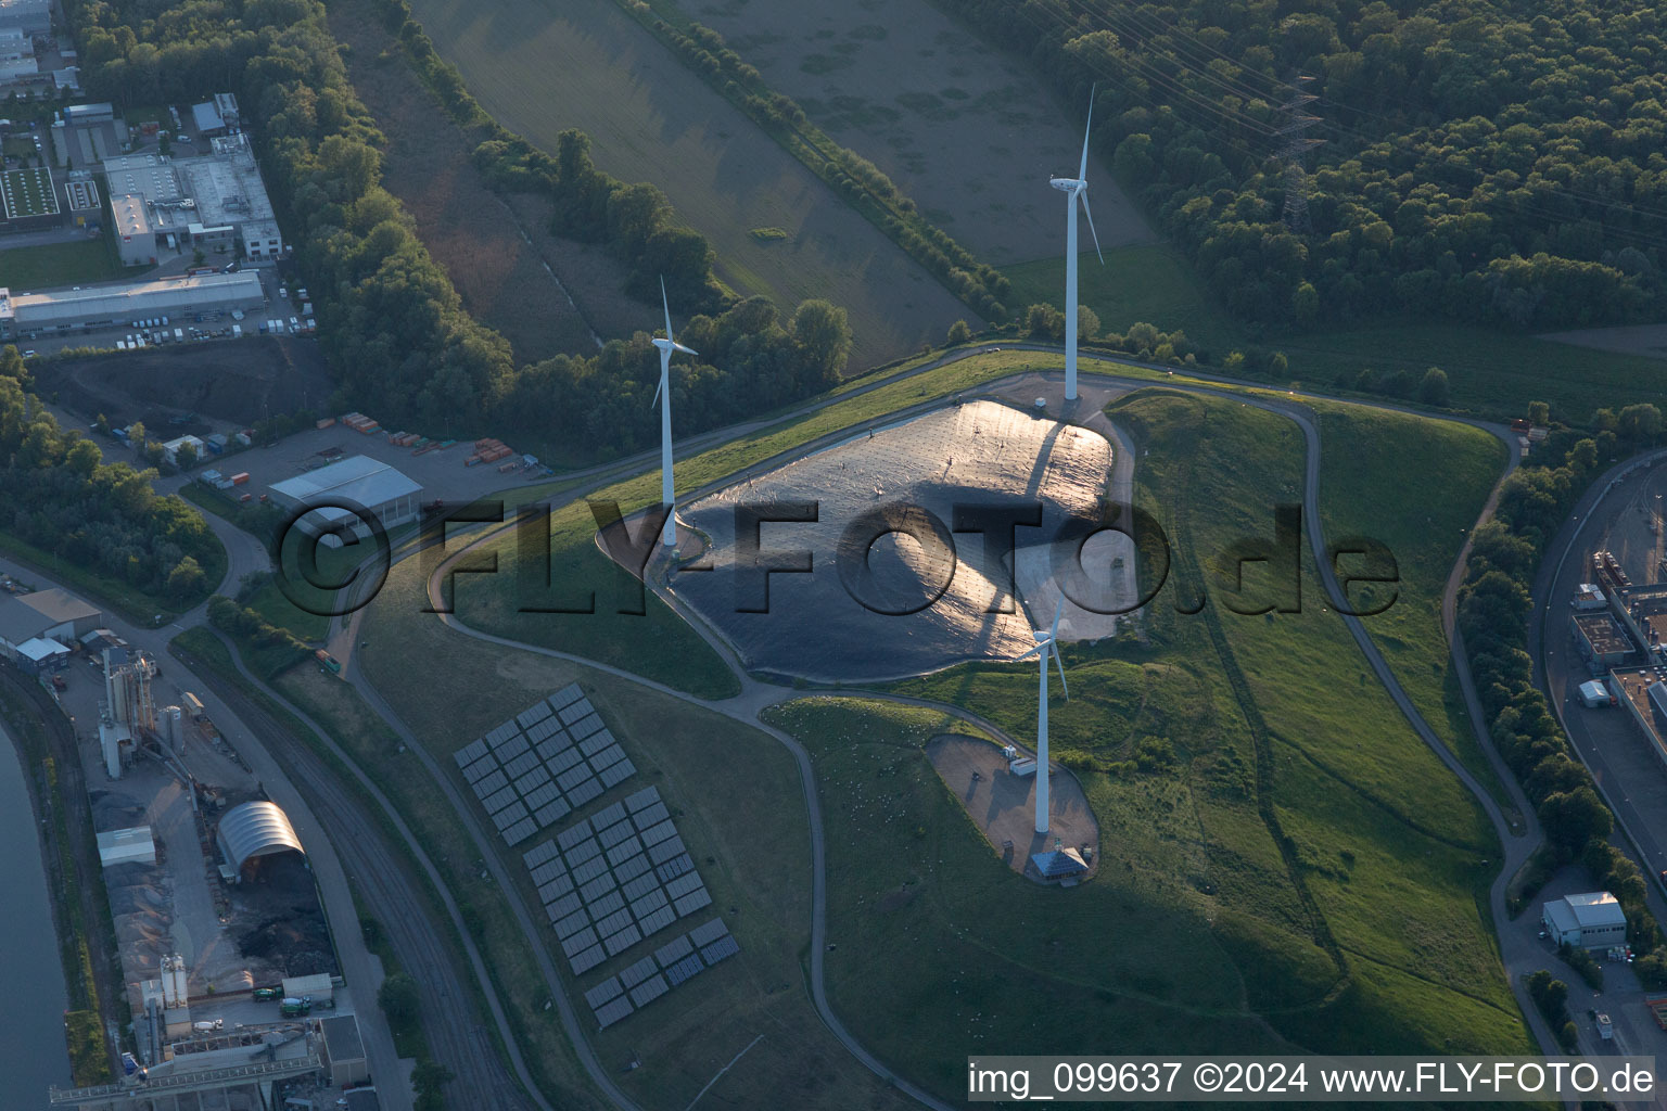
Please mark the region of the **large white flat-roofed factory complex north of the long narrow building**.
<svg viewBox="0 0 1667 1111"><path fill-rule="evenodd" d="M150 235L160 247L190 245L205 253L235 247L245 258L283 253L283 237L248 135L215 138L210 152L198 158L105 158L103 173L112 197L142 198Z"/></svg>

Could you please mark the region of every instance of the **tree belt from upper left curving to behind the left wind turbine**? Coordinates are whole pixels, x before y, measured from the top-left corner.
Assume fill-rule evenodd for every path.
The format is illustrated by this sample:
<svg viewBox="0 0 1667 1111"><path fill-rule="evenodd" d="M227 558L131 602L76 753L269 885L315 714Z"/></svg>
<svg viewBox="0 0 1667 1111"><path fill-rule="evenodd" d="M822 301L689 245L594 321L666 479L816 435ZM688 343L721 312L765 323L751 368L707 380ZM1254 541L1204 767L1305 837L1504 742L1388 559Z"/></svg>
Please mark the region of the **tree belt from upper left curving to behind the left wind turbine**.
<svg viewBox="0 0 1667 1111"><path fill-rule="evenodd" d="M508 343L468 315L410 215L382 187L385 140L347 80L318 0L67 0L67 13L93 97L155 105L237 93L313 291L340 408L373 405L385 418L433 428L540 436L550 435L552 413L600 408L627 416L592 421L585 443L605 455L635 443L635 410L647 398L627 401L638 381L612 371L632 361L627 350L647 350L645 338L615 340L592 358L515 366ZM458 88L448 108L463 98ZM752 415L760 395L803 396L844 370L850 330L842 310L807 301L783 328L773 306L730 305L712 283L705 240L675 227L658 190L598 173L577 132L557 157L515 140L500 133L482 158L502 162L503 173L542 175L537 187L555 195L562 232L620 253L632 265L630 291L657 295L663 267L667 285L690 305L722 313L725 323L712 333L720 345L692 345L703 361L680 376L680 391L697 395L685 416L700 421L680 418L685 430ZM690 333L700 333L700 320ZM545 408L527 408L533 396Z"/></svg>

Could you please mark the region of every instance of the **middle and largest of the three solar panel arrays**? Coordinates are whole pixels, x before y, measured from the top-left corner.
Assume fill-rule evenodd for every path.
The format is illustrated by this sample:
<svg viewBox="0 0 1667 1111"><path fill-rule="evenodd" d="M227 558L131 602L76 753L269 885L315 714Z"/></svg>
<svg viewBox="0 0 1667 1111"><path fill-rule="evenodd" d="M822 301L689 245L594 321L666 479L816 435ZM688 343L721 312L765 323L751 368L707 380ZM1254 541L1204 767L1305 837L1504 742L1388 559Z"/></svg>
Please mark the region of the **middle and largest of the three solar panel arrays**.
<svg viewBox="0 0 1667 1111"><path fill-rule="evenodd" d="M652 786L580 818L522 859L575 976L712 904Z"/></svg>

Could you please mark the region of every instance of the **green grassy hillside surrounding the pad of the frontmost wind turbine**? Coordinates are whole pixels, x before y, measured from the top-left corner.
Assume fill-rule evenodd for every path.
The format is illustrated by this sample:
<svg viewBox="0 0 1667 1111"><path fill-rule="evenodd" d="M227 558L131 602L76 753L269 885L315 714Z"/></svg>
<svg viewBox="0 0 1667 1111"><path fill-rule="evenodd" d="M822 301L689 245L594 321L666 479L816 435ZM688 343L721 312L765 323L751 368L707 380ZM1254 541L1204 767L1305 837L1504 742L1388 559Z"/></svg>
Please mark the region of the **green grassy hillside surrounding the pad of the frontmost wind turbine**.
<svg viewBox="0 0 1667 1111"><path fill-rule="evenodd" d="M1137 498L1175 561L1144 618L1149 643L1064 653L1074 696L1050 711L1050 736L1100 821L1094 881L1055 893L1009 873L920 751L939 726L837 700L778 711L823 790L842 1014L944 1094L960 1076L932 1031L969 1028L1014 1053L1042 1051L1059 1028L1112 1053L1270 1044L1274 1031L1317 1051L1527 1049L1479 908L1492 830L1327 611L1307 545L1300 613L1225 605L1220 555L1270 538L1274 505L1300 500L1297 428L1169 391L1112 416L1142 451ZM1239 608L1277 588L1250 570L1245 583ZM1179 613L1200 590L1204 611ZM899 690L1034 736L1029 666ZM1110 954L1107 921L1130 923ZM910 961L880 956L900 946ZM942 983L960 994L934 1003Z"/></svg>

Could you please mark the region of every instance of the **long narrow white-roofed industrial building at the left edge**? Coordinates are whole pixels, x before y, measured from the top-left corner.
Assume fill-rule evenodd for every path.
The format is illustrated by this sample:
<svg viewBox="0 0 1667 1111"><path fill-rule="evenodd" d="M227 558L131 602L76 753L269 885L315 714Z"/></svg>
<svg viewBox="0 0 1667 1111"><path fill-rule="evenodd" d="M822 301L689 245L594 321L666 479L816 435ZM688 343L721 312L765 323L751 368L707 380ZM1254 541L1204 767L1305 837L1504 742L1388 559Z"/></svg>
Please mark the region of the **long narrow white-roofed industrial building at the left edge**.
<svg viewBox="0 0 1667 1111"><path fill-rule="evenodd" d="M120 328L135 320L252 310L265 303L260 277L253 273L210 273L47 293L0 288L0 340Z"/></svg>

